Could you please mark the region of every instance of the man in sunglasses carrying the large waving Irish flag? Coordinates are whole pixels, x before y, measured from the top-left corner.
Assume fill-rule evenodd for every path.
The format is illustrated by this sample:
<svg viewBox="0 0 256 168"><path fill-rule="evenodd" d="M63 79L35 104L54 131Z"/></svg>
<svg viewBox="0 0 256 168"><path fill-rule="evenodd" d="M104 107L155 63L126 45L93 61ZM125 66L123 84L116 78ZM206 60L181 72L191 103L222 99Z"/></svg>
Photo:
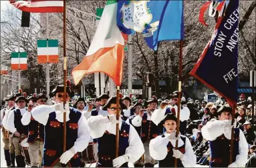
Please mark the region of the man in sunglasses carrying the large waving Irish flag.
<svg viewBox="0 0 256 168"><path fill-rule="evenodd" d="M92 116L88 119L92 138L98 139L98 163L96 167L128 167L128 162L134 163L144 153L144 147L136 129L119 118L116 119L116 109L119 113L126 106L120 101L116 105L116 97L110 97L102 108L108 111L108 116ZM116 123L119 123L119 157L116 157Z"/></svg>

